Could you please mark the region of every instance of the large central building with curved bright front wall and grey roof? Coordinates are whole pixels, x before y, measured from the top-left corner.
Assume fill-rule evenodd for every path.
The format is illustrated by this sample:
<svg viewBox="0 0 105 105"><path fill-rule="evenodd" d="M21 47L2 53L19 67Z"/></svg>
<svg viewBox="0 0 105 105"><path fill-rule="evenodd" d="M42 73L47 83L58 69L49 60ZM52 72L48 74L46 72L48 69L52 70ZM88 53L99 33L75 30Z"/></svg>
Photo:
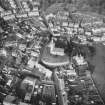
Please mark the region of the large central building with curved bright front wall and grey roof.
<svg viewBox="0 0 105 105"><path fill-rule="evenodd" d="M41 62L49 67L57 67L69 64L69 57L64 53L64 49L55 48L53 41L47 45L42 52Z"/></svg>

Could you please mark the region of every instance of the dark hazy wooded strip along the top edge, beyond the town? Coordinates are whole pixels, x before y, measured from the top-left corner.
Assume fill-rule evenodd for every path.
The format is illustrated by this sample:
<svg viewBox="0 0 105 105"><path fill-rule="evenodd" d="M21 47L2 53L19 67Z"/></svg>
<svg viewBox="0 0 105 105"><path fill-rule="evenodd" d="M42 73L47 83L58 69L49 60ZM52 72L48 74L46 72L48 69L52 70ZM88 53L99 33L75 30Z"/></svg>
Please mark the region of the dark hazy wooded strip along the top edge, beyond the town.
<svg viewBox="0 0 105 105"><path fill-rule="evenodd" d="M39 0L41 8L46 10L55 3L74 4L78 10L86 10L105 14L105 0Z"/></svg>

